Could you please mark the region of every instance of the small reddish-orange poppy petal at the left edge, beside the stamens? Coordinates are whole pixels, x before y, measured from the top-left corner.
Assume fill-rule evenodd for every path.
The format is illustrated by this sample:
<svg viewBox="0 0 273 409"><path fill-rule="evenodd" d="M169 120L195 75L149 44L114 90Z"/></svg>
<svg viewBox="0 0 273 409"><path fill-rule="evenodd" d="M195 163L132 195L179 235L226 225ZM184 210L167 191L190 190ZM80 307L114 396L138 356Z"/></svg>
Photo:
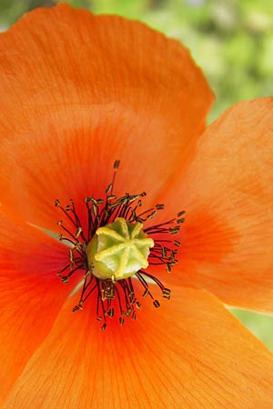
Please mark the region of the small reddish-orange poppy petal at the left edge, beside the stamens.
<svg viewBox="0 0 273 409"><path fill-rule="evenodd" d="M0 237L1 402L44 341L71 288L56 277L65 263L64 245L26 224L12 224L3 214Z"/></svg>

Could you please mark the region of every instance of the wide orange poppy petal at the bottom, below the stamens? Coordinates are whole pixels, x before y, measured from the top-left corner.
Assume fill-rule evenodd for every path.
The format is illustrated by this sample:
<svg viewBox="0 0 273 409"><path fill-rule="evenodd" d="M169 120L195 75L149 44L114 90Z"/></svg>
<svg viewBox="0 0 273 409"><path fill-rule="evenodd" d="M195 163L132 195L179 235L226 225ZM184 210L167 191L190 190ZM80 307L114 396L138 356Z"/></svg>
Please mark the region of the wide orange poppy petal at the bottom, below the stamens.
<svg viewBox="0 0 273 409"><path fill-rule="evenodd" d="M59 314L9 395L20 407L270 407L273 358L213 295L184 288L103 333Z"/></svg>

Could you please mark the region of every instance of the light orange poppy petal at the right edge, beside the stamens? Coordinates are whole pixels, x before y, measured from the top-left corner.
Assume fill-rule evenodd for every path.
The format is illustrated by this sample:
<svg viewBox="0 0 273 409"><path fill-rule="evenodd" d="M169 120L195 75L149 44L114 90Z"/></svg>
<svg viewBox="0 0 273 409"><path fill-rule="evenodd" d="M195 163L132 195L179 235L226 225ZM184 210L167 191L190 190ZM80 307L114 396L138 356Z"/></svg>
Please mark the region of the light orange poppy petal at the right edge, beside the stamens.
<svg viewBox="0 0 273 409"><path fill-rule="evenodd" d="M207 128L174 196L186 213L169 280L273 312L273 98L234 105Z"/></svg>

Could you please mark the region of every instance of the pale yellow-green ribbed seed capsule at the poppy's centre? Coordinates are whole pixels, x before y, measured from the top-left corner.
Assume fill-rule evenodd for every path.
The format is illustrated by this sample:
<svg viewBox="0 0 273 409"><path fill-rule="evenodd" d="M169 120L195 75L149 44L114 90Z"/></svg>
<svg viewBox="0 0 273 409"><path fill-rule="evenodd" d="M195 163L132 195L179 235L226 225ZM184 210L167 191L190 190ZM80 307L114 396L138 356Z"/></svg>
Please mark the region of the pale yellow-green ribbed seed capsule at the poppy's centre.
<svg viewBox="0 0 273 409"><path fill-rule="evenodd" d="M86 246L89 267L101 280L122 280L147 268L149 249L154 240L142 230L142 223L130 223L123 217L99 227Z"/></svg>

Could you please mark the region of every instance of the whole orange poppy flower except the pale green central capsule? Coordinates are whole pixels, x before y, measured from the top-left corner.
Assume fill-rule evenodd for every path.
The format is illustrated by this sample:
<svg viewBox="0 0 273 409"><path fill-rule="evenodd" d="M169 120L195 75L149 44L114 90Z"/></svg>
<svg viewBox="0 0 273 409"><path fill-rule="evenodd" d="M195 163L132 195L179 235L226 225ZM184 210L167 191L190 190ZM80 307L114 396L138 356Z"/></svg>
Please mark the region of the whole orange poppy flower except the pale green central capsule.
<svg viewBox="0 0 273 409"><path fill-rule="evenodd" d="M3 407L271 407L272 355L224 304L273 310L273 100L235 105L204 131L212 94L187 50L113 15L37 9L0 38ZM88 240L116 214L154 243L138 281L94 273L86 296ZM169 269L170 254L167 274L157 264ZM113 305L136 313L131 285L143 308L119 323Z"/></svg>

